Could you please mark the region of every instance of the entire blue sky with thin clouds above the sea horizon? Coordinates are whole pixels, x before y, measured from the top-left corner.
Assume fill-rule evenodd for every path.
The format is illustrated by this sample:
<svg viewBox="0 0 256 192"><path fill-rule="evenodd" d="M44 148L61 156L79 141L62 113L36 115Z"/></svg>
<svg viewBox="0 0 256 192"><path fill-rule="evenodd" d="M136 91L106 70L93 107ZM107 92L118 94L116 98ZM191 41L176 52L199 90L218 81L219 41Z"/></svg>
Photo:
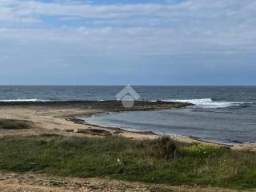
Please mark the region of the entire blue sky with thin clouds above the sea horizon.
<svg viewBox="0 0 256 192"><path fill-rule="evenodd" d="M2 85L256 85L255 0L0 0Z"/></svg>

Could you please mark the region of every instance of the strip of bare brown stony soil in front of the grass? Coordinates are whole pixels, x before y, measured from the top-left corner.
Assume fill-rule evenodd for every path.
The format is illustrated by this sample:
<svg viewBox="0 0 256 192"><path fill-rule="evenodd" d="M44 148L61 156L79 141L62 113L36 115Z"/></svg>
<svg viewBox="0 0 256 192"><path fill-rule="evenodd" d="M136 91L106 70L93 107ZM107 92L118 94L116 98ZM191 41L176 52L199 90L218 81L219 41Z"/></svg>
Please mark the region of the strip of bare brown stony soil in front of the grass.
<svg viewBox="0 0 256 192"><path fill-rule="evenodd" d="M98 178L65 178L45 174L14 174L0 172L1 192L235 192L222 188L199 186L148 185ZM256 190L245 190L256 191Z"/></svg>

